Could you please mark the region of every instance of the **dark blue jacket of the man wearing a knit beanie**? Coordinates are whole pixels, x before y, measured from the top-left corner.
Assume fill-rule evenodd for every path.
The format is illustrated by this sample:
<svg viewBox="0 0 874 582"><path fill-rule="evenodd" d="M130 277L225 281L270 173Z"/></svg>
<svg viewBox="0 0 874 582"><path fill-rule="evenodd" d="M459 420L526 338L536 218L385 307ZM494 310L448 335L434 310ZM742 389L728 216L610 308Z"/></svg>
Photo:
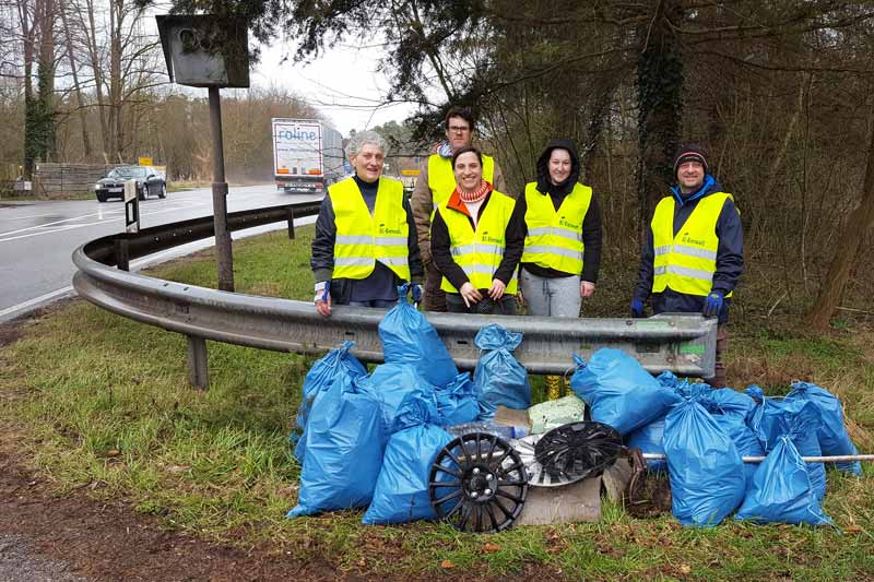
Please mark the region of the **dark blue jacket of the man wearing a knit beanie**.
<svg viewBox="0 0 874 582"><path fill-rule="evenodd" d="M700 190L690 195L682 195L680 189L674 187L671 192L676 200L674 204L674 236L683 228L692 211L702 198L713 192L721 192L722 187L709 174L705 176L704 185ZM728 295L737 285L741 274L744 271L744 231L741 226L741 216L734 202L725 200L722 212L717 219L717 236L719 247L717 248L717 271L713 273L711 290L722 292ZM640 270L635 287L635 299L646 301L652 292L652 261L654 251L652 248L652 228L647 229L647 241L640 253ZM704 308L705 297L698 295L687 295L676 293L670 287L662 293L652 294L652 310L656 313L662 312L700 312ZM729 319L729 306L731 299L727 298L722 304L722 311L719 313L719 322L724 323Z"/></svg>

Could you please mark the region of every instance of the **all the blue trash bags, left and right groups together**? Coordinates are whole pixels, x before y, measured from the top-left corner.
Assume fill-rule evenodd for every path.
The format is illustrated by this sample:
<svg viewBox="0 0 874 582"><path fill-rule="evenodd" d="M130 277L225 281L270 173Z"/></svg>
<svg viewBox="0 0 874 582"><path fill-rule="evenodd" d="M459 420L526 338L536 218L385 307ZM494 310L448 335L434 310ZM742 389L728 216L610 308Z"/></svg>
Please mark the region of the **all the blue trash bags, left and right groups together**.
<svg viewBox="0 0 874 582"><path fill-rule="evenodd" d="M629 448L665 455L648 467L668 473L672 511L684 525L712 527L731 514L754 523L831 523L820 506L825 466L802 458L858 451L840 401L826 389L794 382L781 397L755 385L745 393L711 389L670 371L652 377L634 357L605 348L588 361L572 356L574 395L531 407L528 373L512 356L520 333L486 325L475 337L482 355L473 377L459 373L404 288L399 296L379 324L385 364L368 373L345 342L306 376L290 437L302 465L290 518L366 508L367 524L435 519L434 459L454 436L489 426L504 406L529 411L536 432L582 420L588 408ZM501 428L506 438L524 436ZM861 474L858 462L836 466Z"/></svg>

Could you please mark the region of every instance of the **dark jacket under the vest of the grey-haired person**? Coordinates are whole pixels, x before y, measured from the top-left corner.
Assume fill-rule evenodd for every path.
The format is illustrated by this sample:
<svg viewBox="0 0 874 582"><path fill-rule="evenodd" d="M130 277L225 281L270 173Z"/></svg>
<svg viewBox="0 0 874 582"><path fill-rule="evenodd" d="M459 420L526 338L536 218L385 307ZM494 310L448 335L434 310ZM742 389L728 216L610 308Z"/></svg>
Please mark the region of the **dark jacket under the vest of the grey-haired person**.
<svg viewBox="0 0 874 582"><path fill-rule="evenodd" d="M357 176L352 179L358 185L362 198L367 204L367 209L373 214L376 204L376 185L368 185ZM403 199L403 210L406 213L406 225L409 228L406 248L409 250L408 261L410 265L410 277L412 278L412 283L421 285L425 278L425 271L422 266L422 257L418 253L418 239L416 237L416 225L413 221L413 212L410 210L410 201L405 197ZM334 221L334 209L331 203L331 197L326 195L321 201L319 216L316 218L316 237L312 239L312 256L309 259L309 265L312 269L317 283L321 281L331 282L331 300L334 305L347 305L350 302L353 285L367 286L368 284L376 283L380 286L391 287L403 283L393 271L379 261L376 263L374 273L367 278L333 278L335 239L336 223ZM382 282L386 283L382 284ZM380 290L382 293L379 293ZM394 292L393 288L376 289L376 292L378 295L387 296L374 298L388 299L397 297L397 293L390 295Z"/></svg>

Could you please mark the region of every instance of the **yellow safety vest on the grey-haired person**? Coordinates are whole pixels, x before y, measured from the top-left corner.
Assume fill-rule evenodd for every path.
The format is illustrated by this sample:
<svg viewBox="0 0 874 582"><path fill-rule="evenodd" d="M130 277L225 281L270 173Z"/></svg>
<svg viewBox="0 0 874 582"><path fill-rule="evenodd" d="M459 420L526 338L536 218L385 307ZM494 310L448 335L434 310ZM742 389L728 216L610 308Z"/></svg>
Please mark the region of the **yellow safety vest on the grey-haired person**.
<svg viewBox="0 0 874 582"><path fill-rule="evenodd" d="M379 178L374 215L353 178L328 187L334 209L334 278L366 278L376 261L410 281L409 225L403 210L403 185Z"/></svg>

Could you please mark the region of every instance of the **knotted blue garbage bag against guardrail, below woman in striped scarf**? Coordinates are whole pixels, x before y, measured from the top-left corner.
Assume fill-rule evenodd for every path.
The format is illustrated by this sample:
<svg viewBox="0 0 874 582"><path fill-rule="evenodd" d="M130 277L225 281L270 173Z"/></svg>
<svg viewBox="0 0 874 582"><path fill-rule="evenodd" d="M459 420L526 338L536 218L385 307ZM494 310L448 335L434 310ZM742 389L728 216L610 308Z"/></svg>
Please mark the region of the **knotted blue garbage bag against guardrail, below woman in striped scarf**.
<svg viewBox="0 0 874 582"><path fill-rule="evenodd" d="M522 343L522 334L491 323L476 333L474 343L485 351L473 370L473 383L480 390L480 418L494 417L498 406L531 406L528 371L511 354Z"/></svg>

